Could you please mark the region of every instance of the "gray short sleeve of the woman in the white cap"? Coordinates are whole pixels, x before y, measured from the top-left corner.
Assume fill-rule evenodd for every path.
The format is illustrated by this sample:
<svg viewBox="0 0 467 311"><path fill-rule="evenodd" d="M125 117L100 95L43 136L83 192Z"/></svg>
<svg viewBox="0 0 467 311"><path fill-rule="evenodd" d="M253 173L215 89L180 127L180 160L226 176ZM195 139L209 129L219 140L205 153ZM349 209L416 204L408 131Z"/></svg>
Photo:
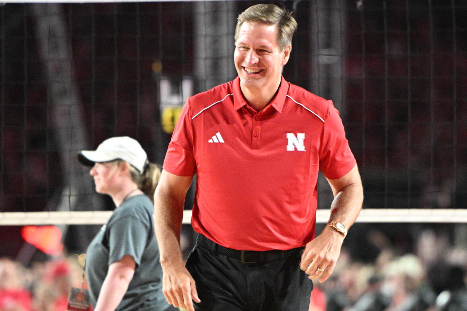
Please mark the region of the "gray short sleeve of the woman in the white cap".
<svg viewBox="0 0 467 311"><path fill-rule="evenodd" d="M134 217L122 217L108 226L108 264L130 255L139 266L146 247L147 227Z"/></svg>

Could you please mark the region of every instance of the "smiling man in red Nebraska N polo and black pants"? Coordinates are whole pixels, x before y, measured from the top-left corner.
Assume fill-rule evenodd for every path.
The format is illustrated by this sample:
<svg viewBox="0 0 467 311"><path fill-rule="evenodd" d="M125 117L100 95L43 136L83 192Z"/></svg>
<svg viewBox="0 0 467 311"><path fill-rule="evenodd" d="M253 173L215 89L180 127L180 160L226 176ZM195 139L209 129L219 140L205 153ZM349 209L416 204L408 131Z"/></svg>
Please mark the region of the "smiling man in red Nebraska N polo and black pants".
<svg viewBox="0 0 467 311"><path fill-rule="evenodd" d="M272 4L239 15L238 77L190 97L155 192L163 293L188 311L305 311L312 278L339 258L363 190L339 112L282 76L297 27ZM315 237L318 173L334 193ZM191 223L198 232L186 264L180 229L197 174Z"/></svg>

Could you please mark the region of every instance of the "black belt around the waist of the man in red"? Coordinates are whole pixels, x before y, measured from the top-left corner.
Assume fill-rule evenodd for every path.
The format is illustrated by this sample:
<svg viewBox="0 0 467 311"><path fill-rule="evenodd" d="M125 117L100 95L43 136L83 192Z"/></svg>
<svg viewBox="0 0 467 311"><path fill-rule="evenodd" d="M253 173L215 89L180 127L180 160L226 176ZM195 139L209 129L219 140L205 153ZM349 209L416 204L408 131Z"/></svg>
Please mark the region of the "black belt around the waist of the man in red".
<svg viewBox="0 0 467 311"><path fill-rule="evenodd" d="M196 244L208 248L213 252L226 255L232 258L240 259L243 263L267 263L269 261L286 259L292 254L296 254L304 249L304 247L292 248L285 251L273 249L270 251L239 251L232 248L221 246L202 234L198 234Z"/></svg>

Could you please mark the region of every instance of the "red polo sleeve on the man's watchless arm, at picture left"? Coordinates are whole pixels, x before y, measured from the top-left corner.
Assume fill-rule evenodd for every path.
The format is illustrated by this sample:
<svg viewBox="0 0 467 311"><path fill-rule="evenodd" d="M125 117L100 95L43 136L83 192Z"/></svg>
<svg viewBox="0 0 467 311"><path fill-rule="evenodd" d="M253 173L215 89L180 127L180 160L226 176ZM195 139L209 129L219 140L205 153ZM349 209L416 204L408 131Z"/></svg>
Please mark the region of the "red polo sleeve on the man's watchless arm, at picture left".
<svg viewBox="0 0 467 311"><path fill-rule="evenodd" d="M163 169L179 176L192 176L196 173L196 161L193 154L193 127L189 114L188 99L183 106L179 120L167 147Z"/></svg>

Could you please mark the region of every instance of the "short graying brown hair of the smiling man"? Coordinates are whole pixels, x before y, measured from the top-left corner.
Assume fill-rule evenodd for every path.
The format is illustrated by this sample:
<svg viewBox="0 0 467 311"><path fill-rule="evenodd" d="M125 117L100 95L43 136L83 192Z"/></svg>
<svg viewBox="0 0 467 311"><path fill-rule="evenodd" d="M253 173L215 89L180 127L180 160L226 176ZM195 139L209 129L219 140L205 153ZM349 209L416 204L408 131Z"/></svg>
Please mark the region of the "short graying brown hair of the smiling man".
<svg viewBox="0 0 467 311"><path fill-rule="evenodd" d="M282 51L292 44L293 33L297 29L297 22L292 12L274 4L256 4L241 13L235 27L235 41L244 22L258 22L277 26L277 44Z"/></svg>

